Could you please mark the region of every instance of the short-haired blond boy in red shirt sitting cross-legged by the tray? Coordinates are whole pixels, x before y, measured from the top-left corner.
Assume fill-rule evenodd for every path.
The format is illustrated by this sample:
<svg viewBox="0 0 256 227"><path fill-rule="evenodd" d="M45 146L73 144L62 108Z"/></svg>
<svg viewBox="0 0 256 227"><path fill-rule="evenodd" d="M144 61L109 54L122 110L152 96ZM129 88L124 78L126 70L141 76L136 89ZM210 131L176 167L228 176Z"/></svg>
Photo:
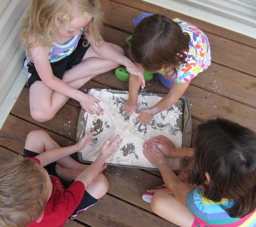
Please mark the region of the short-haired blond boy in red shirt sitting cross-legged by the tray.
<svg viewBox="0 0 256 227"><path fill-rule="evenodd" d="M68 217L74 219L98 202L108 191L101 173L105 160L122 140L117 135L106 141L90 165L73 160L69 155L83 149L94 134L61 148L46 132L30 132L24 157L0 166L0 226L62 227Z"/></svg>

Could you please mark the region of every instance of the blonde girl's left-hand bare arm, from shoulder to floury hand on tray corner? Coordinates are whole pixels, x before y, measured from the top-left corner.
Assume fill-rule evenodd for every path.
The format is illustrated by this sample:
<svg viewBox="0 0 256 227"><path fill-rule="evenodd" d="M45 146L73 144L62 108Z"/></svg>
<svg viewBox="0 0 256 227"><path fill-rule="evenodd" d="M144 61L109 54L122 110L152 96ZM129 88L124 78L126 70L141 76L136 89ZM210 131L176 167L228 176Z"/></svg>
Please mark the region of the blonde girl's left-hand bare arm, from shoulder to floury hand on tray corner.
<svg viewBox="0 0 256 227"><path fill-rule="evenodd" d="M100 112L98 113L96 112L97 109L93 108L95 103L100 102L100 100L92 97L91 95L84 94L82 91L76 90L71 86L68 86L68 84L53 75L52 67L48 59L49 47L45 47L41 39L38 41L38 46L31 51L31 55L36 67L36 71L46 86L59 92L60 94L77 100L80 102L84 110L88 111L89 114L95 113L99 115L103 111L103 109L101 110L99 107L98 109L100 109Z"/></svg>

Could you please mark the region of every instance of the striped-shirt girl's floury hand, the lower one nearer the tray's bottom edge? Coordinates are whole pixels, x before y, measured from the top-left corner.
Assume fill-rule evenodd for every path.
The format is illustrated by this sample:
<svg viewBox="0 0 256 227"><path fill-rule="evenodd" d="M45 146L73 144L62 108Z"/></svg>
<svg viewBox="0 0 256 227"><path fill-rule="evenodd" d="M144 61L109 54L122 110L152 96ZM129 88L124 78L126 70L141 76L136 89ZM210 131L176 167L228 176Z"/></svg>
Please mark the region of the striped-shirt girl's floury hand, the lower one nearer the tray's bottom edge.
<svg viewBox="0 0 256 227"><path fill-rule="evenodd" d="M160 151L158 146L152 144L151 141L144 142L143 154L148 161L157 168L159 168L161 164L167 162L165 155Z"/></svg>

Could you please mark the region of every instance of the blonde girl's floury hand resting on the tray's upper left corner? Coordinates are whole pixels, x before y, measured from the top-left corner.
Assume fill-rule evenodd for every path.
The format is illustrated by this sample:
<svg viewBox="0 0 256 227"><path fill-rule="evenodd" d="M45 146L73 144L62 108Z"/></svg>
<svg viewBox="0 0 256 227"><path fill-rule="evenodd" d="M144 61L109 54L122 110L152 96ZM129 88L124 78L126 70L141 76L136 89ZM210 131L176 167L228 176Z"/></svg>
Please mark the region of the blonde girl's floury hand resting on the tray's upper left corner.
<svg viewBox="0 0 256 227"><path fill-rule="evenodd" d="M100 116L103 114L104 109L99 105L100 100L94 98L92 95L84 94L83 100L80 101L80 105L89 114L96 114Z"/></svg>

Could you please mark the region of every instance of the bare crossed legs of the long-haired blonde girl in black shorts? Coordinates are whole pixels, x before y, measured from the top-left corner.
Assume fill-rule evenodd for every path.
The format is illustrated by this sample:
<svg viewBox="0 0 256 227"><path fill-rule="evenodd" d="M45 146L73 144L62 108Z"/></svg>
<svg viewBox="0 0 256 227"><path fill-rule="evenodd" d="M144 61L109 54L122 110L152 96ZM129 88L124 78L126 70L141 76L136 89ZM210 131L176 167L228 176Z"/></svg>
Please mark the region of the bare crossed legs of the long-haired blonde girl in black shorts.
<svg viewBox="0 0 256 227"><path fill-rule="evenodd" d="M111 44L117 51L124 53L121 47ZM119 64L111 60L100 58L92 48L85 53L83 60L63 76L63 81L69 86L79 89L98 74L118 67ZM41 81L36 81L30 88L30 112L36 121L52 119L60 108L68 101L68 97L48 88Z"/></svg>

